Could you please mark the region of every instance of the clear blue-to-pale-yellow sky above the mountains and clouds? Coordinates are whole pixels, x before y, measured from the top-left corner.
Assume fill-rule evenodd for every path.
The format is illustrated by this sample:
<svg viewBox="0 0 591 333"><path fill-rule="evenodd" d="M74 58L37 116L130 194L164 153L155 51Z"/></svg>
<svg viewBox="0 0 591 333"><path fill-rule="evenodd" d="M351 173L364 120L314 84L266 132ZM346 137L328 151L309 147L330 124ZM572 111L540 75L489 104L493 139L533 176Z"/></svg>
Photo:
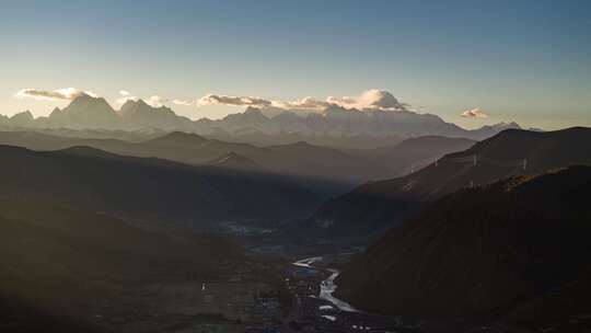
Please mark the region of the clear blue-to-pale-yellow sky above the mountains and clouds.
<svg viewBox="0 0 591 333"><path fill-rule="evenodd" d="M591 126L591 1L2 1L0 113L105 96L297 100L383 89L466 127ZM463 118L478 107L488 118ZM178 106L192 118L228 106Z"/></svg>

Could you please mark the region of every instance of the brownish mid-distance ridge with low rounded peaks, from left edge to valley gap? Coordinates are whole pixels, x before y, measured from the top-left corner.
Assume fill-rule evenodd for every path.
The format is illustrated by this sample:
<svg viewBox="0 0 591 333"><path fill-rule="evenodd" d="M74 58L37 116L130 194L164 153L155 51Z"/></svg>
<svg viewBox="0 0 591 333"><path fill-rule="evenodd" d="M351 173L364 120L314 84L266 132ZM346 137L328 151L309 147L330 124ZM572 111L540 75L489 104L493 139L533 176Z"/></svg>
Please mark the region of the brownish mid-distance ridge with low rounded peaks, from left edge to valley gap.
<svg viewBox="0 0 591 333"><path fill-rule="evenodd" d="M195 134L179 131L139 142L62 138L26 131L0 131L0 143L35 150L86 146L117 154L155 157L193 165L210 165L211 161L233 152L258 164L260 172L343 183L340 187L343 185L350 187L351 184L359 184L386 171L380 162L372 159L305 142L260 148L247 143L207 139ZM225 164L225 166L230 169L231 165Z"/></svg>

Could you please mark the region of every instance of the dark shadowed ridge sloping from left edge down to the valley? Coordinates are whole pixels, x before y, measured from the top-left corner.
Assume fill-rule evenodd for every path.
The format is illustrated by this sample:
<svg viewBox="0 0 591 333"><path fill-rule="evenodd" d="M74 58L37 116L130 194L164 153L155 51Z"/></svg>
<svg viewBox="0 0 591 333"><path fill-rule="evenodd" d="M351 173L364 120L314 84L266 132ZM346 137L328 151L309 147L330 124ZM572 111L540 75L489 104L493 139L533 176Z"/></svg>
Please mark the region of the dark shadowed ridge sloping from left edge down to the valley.
<svg viewBox="0 0 591 333"><path fill-rule="evenodd" d="M35 152L0 147L0 197L51 199L71 207L207 226L305 216L320 203L301 183L278 176L115 156L93 148Z"/></svg>

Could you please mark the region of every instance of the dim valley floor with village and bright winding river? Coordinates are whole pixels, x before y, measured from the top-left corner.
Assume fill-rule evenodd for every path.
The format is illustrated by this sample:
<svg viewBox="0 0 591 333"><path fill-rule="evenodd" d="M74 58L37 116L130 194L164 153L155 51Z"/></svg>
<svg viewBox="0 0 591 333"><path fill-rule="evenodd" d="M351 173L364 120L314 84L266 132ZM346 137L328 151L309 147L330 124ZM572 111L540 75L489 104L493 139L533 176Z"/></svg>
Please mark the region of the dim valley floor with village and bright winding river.
<svg viewBox="0 0 591 333"><path fill-rule="evenodd" d="M207 276L179 269L96 305L92 321L129 333L417 332L398 318L343 308L331 298L335 286L327 283L335 271L328 267L347 262L352 253L303 261L257 253L221 262Z"/></svg>

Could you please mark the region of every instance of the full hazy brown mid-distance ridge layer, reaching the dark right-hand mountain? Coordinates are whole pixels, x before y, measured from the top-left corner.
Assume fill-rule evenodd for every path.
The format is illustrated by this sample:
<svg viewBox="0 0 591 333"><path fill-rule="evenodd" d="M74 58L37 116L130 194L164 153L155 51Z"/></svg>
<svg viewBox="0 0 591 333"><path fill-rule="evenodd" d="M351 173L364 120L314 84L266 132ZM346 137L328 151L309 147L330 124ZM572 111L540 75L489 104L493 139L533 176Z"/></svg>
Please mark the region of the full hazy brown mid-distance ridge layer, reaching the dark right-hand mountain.
<svg viewBox="0 0 591 333"><path fill-rule="evenodd" d="M247 143L225 142L186 134L170 133L142 141L60 137L35 131L0 131L0 143L34 150L58 150L74 146L94 147L132 157L157 157L187 164L222 166L231 170L273 173L335 182L331 187L349 190L372 179L401 174L413 163L432 160L472 142L443 137L416 138L398 146L364 151L340 151L299 141L266 148ZM412 152L412 153L410 153ZM234 157L225 160L227 157ZM240 163L230 163L237 157ZM244 162L244 160L251 162ZM254 165L258 166L254 166ZM344 184L337 184L344 183ZM328 184L327 184L328 185Z"/></svg>

